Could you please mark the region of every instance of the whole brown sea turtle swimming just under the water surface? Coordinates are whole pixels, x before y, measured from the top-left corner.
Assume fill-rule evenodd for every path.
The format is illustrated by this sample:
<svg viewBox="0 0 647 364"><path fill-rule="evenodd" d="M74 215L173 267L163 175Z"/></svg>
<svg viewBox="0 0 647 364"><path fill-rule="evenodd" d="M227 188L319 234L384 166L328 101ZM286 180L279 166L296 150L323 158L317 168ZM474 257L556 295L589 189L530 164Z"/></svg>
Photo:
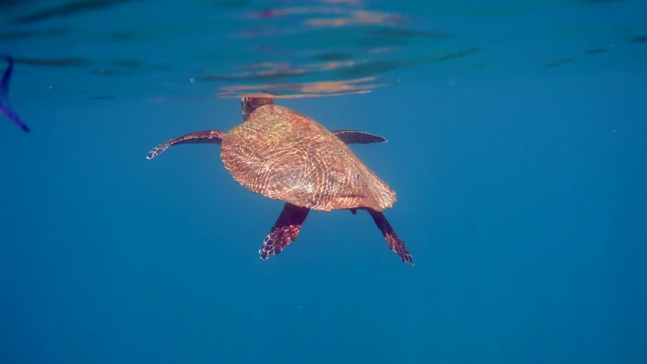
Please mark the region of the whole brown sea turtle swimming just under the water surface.
<svg viewBox="0 0 647 364"><path fill-rule="evenodd" d="M413 265L406 245L382 214L395 202L395 192L347 146L386 139L364 131L328 131L305 115L275 105L271 97L243 97L241 108L243 123L228 133L182 135L146 157L153 159L176 144L221 144L221 161L234 180L252 192L285 201L259 250L263 260L296 240L311 209L348 209L353 214L362 209L371 214L391 250Z"/></svg>

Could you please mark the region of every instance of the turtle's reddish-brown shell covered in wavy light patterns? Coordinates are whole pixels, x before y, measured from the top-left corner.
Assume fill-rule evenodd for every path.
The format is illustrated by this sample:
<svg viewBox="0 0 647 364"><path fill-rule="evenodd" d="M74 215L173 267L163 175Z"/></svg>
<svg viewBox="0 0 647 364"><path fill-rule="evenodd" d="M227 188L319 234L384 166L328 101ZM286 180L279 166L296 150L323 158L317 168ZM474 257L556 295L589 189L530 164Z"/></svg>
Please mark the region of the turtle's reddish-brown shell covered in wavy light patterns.
<svg viewBox="0 0 647 364"><path fill-rule="evenodd" d="M281 106L261 106L226 133L220 157L243 187L309 209L381 211L396 199L341 139Z"/></svg>

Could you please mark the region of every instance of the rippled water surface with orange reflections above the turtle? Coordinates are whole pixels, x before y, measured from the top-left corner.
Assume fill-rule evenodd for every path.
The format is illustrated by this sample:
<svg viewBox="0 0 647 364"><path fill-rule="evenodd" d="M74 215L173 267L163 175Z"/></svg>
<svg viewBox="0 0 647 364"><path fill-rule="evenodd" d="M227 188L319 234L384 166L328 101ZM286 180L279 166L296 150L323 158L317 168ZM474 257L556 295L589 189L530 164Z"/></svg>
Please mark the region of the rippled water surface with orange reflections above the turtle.
<svg viewBox="0 0 647 364"><path fill-rule="evenodd" d="M604 59L616 41L630 43L622 56L644 58L635 50L646 39L639 28L614 34L586 23L586 14L616 3L0 0L0 54L14 57L16 78L42 80L23 98L51 90L135 100L338 96L426 65L452 78L567 67L580 54L611 62Z"/></svg>

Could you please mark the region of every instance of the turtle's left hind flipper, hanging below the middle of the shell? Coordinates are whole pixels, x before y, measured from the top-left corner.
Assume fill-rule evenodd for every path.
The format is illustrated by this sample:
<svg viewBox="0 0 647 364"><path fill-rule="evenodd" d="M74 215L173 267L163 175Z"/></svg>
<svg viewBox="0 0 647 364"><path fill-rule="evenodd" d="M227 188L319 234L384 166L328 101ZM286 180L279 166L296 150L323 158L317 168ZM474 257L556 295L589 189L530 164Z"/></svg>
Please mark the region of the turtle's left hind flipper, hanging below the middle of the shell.
<svg viewBox="0 0 647 364"><path fill-rule="evenodd" d="M308 216L310 209L307 207L300 207L285 203L278 220L274 223L274 227L263 240L263 246L258 254L261 259L265 260L272 255L281 253L285 245L290 244L296 240L305 218Z"/></svg>

